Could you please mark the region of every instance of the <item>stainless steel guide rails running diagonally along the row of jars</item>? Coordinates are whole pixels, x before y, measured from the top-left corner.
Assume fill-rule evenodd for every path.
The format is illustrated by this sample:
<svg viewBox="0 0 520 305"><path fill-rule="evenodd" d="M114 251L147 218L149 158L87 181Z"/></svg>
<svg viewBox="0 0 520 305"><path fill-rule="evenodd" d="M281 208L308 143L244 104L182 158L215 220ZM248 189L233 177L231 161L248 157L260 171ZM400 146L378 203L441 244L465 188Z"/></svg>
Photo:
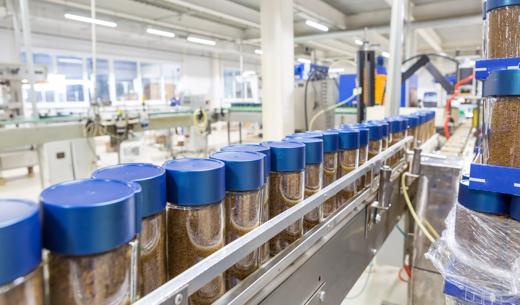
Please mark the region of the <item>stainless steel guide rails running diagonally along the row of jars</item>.
<svg viewBox="0 0 520 305"><path fill-rule="evenodd" d="M400 150L406 149L406 145L410 143L412 139L412 137L406 137L400 142L394 144L353 172L325 187L319 193L305 199L301 203L272 218L254 231L242 236L226 245L221 250L208 256L198 264L143 297L135 304L187 304L187 297L195 293L205 284L209 283L217 275L226 271L243 257L269 241L278 233L282 232L289 225L303 218L305 214L323 204L327 199L335 196L346 186L355 183L355 181L368 172L374 173L374 177L379 176L379 171L381 170L384 161L397 154ZM402 166L401 163L392 170L402 172L405 168L406 166ZM310 253L320 250L320 244L323 245L323 243L328 239L338 235L336 234L337 230L345 228L354 217L356 220L359 218L358 215L360 211L367 208L367 203L372 203L368 199L375 198L377 195L378 183L379 179L372 179L372 185L361 191L350 203L328 217L325 222L308 232L304 237L293 243L282 253L272 258L262 266L259 271L241 282L240 285L229 291L221 299L217 300L215 304L260 303L266 295L274 289L268 289L266 286L280 285L280 282L284 279L284 274L285 278L287 278L291 273L294 273L294 268L298 268L299 260L304 263L305 260L309 258L309 255L311 255ZM393 193L395 193L395 191ZM397 191L397 193L399 193L399 191ZM366 229L368 216L363 215L362 218L363 227L365 227L365 230L368 230ZM366 232L364 232L364 235L366 235ZM377 249L372 251L373 254L375 254L376 251ZM289 302L286 304L292 303Z"/></svg>

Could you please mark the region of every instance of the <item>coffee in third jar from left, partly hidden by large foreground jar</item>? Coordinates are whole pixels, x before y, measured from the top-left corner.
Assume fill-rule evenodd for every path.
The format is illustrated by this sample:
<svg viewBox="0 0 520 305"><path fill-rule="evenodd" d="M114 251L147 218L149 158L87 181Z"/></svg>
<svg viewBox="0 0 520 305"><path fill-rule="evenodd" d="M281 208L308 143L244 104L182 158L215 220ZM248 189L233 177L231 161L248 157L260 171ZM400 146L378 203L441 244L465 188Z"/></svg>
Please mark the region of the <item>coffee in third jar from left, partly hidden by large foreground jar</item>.
<svg viewBox="0 0 520 305"><path fill-rule="evenodd" d="M166 212L143 218L140 245L139 287L141 295L166 283Z"/></svg>

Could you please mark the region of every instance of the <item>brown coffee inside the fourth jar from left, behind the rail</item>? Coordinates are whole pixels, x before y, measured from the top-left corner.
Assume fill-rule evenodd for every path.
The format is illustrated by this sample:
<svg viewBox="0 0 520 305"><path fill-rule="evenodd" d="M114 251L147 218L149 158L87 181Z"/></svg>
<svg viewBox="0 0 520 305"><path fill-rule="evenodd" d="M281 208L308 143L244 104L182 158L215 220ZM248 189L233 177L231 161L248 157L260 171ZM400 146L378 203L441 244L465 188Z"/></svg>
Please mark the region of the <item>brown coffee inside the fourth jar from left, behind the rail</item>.
<svg viewBox="0 0 520 305"><path fill-rule="evenodd" d="M182 207L169 204L168 277L172 279L200 260L224 247L224 205L209 204ZM190 296L192 305L209 305L226 291L224 275Z"/></svg>

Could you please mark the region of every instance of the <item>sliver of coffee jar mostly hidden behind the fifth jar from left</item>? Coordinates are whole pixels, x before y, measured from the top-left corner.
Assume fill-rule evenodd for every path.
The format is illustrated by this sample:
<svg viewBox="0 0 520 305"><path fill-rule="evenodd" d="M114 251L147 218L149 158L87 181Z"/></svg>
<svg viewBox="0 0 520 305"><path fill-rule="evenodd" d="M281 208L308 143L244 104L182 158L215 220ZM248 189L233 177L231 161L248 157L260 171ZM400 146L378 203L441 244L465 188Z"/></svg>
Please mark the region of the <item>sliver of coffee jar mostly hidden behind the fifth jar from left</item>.
<svg viewBox="0 0 520 305"><path fill-rule="evenodd" d="M222 151L252 151L264 155L264 185L262 186L262 219L265 223L269 220L269 174L271 173L271 150L260 144L235 144L229 145L221 149ZM265 243L260 249L258 259L260 264L265 263L271 257L269 242Z"/></svg>

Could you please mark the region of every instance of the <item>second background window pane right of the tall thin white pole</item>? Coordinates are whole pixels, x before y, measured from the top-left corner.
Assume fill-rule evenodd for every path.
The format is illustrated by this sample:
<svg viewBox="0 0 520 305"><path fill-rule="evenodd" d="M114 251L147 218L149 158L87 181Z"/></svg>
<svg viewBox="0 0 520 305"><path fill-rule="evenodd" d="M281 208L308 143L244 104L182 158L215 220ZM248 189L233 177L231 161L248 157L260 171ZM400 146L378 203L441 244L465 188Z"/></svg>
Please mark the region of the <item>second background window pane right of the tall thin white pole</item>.
<svg viewBox="0 0 520 305"><path fill-rule="evenodd" d="M114 61L116 79L116 99L118 101L138 100L137 63L134 61Z"/></svg>

